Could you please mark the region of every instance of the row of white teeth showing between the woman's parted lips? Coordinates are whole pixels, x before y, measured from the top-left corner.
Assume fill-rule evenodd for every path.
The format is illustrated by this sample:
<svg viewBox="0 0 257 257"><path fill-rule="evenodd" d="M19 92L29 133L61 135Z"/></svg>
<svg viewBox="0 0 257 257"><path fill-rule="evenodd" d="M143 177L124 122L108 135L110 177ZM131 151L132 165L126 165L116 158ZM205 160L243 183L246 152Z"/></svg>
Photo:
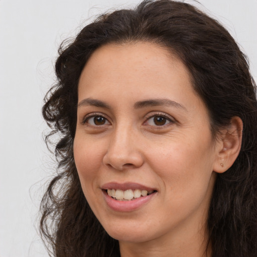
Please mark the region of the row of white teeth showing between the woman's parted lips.
<svg viewBox="0 0 257 257"><path fill-rule="evenodd" d="M140 189L135 189L135 190L107 189L105 191L110 197L118 201L131 201L156 192L156 190L147 191L147 190L140 190Z"/></svg>

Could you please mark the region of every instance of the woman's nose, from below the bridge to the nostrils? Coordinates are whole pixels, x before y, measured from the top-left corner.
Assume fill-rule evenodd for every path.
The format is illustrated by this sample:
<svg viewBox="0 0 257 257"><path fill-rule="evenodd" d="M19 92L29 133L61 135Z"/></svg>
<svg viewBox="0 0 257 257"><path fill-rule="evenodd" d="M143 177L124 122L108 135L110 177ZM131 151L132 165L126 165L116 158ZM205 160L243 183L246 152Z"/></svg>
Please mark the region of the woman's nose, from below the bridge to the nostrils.
<svg viewBox="0 0 257 257"><path fill-rule="evenodd" d="M137 133L129 127L117 128L110 137L103 163L119 171L141 167L144 158Z"/></svg>

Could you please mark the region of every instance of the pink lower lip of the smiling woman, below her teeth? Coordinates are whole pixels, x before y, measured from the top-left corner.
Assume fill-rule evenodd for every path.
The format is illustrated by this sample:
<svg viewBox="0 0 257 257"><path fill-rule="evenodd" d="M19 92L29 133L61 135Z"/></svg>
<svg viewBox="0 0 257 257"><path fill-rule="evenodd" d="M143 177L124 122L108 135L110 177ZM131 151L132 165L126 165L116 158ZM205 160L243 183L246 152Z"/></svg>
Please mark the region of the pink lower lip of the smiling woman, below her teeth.
<svg viewBox="0 0 257 257"><path fill-rule="evenodd" d="M107 205L114 211L129 212L141 208L144 204L148 203L157 192L154 192L147 196L141 196L134 200L118 201L107 194L105 190L102 190Z"/></svg>

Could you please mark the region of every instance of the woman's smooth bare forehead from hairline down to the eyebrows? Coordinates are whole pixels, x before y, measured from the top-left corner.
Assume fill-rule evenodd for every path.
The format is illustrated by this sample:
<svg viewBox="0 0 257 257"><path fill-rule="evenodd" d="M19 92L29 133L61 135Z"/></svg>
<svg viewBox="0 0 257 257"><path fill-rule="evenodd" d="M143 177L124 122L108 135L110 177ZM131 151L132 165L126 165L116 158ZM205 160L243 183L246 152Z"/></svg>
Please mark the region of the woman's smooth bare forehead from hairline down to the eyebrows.
<svg viewBox="0 0 257 257"><path fill-rule="evenodd" d="M87 97L118 100L117 95L123 103L128 97L200 100L182 61L162 46L146 42L107 44L87 61L79 80L79 101Z"/></svg>

